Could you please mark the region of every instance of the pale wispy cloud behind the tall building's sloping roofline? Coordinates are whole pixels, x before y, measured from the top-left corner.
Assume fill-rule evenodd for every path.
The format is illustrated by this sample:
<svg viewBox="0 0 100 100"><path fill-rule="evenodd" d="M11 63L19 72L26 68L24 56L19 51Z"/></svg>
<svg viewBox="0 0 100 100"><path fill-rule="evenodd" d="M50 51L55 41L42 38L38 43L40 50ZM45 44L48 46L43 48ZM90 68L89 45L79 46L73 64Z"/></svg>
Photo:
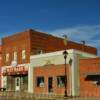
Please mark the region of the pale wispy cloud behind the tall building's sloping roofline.
<svg viewBox="0 0 100 100"><path fill-rule="evenodd" d="M100 50L100 25L56 29L50 33L60 37L66 34L69 40L76 42L84 40L87 45L97 47Z"/></svg>

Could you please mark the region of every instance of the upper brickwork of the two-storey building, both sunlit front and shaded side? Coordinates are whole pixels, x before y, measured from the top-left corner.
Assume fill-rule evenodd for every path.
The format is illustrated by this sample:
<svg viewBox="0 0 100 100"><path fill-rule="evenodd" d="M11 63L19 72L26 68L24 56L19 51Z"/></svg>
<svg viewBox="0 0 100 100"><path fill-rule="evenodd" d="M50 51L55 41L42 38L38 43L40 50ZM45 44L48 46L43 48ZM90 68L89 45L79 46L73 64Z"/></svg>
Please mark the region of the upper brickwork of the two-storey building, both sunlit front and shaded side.
<svg viewBox="0 0 100 100"><path fill-rule="evenodd" d="M42 50L43 53L64 50L63 39L49 34L28 30L4 37L2 39L2 59L3 66L11 65L14 51L17 52L17 63L29 63L30 55L37 54ZM26 59L22 60L22 50L26 50ZM77 49L80 51L97 54L97 49L91 46L68 41L67 49ZM6 54L9 53L9 61L6 62Z"/></svg>

